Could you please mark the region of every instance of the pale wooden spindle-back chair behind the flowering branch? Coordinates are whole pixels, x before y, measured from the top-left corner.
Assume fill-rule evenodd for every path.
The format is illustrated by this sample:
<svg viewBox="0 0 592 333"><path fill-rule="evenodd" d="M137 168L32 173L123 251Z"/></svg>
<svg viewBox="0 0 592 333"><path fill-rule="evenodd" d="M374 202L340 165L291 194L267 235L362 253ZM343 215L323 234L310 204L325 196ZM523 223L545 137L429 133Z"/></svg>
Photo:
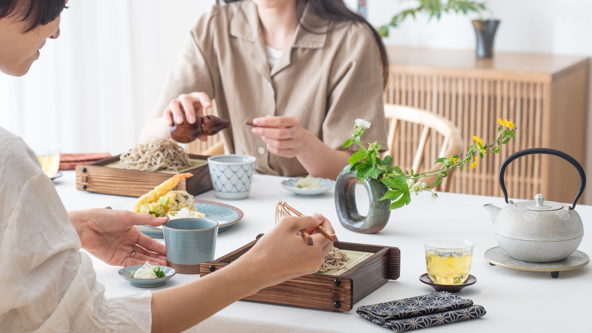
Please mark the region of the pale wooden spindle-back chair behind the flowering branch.
<svg viewBox="0 0 592 333"><path fill-rule="evenodd" d="M393 158L394 165L413 168L416 173L428 172L441 166L433 164L436 158L453 155L462 158L461 132L452 121L430 111L395 104L385 104L384 114L390 122L385 155ZM437 190L448 191L452 171L442 179ZM432 186L436 178L437 175L423 181Z"/></svg>

